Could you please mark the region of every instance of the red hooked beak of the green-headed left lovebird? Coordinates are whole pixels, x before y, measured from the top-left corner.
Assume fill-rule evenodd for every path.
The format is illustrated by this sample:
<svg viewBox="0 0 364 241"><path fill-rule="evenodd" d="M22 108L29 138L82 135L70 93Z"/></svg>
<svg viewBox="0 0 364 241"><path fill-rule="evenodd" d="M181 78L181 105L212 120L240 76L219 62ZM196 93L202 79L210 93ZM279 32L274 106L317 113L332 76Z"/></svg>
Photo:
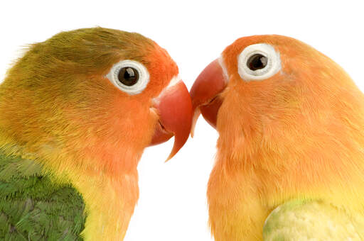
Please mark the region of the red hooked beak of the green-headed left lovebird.
<svg viewBox="0 0 364 241"><path fill-rule="evenodd" d="M174 135L173 149L168 156L171 159L186 143L191 131L191 97L186 85L175 77L153 102L159 114L159 123L150 145L166 142Z"/></svg>

